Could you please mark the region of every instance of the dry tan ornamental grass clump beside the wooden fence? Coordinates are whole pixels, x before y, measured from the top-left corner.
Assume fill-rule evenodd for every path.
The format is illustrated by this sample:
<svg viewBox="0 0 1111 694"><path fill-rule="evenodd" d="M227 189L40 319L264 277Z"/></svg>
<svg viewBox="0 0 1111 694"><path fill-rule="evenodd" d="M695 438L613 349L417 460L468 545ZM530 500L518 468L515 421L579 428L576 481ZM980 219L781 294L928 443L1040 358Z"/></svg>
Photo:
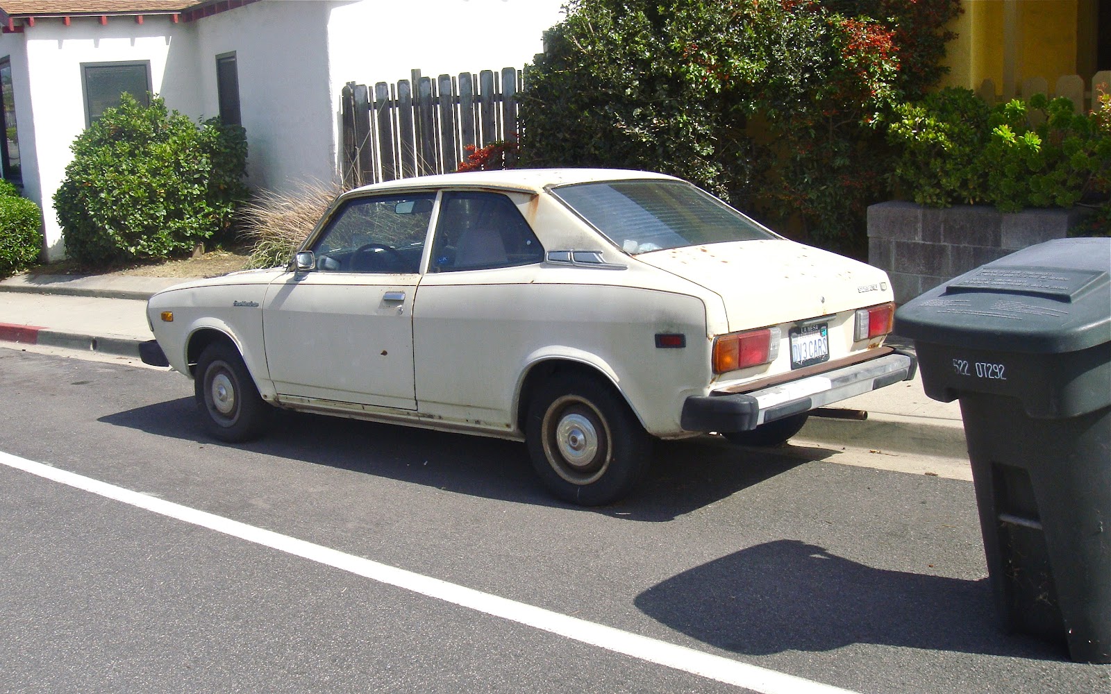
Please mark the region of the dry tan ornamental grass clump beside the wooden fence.
<svg viewBox="0 0 1111 694"><path fill-rule="evenodd" d="M289 262L336 197L339 185L308 181L291 192L262 191L240 210L242 238L253 244L248 264L276 268Z"/></svg>

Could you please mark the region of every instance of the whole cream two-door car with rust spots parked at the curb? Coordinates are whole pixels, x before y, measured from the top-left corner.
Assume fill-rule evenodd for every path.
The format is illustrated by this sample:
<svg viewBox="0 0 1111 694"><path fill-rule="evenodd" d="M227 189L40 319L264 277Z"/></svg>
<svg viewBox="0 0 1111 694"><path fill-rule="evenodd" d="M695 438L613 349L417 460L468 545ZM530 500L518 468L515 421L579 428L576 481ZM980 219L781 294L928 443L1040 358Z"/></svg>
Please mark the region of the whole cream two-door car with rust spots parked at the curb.
<svg viewBox="0 0 1111 694"><path fill-rule="evenodd" d="M523 440L556 496L597 505L653 437L777 444L912 378L892 299L675 178L456 173L340 195L284 268L159 292L143 361L191 378L223 441L272 408Z"/></svg>

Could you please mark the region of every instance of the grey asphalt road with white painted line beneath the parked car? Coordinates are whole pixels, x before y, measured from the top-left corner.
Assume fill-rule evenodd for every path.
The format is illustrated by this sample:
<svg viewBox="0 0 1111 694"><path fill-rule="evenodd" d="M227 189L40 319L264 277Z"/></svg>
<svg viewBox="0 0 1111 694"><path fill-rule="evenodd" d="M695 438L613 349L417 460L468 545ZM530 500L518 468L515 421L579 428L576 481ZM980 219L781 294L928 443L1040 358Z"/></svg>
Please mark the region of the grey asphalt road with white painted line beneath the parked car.
<svg viewBox="0 0 1111 694"><path fill-rule="evenodd" d="M521 444L220 444L179 374L16 349L0 408L0 691L1111 692L999 630L965 481L702 437L582 510Z"/></svg>

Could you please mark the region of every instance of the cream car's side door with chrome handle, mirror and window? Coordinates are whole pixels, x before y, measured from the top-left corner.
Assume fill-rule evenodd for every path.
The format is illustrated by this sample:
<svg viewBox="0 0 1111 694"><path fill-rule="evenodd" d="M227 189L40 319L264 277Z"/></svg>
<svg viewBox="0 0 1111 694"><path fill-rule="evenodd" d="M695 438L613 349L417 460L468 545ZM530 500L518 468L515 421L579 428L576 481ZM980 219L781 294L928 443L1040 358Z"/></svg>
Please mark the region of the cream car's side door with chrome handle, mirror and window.
<svg viewBox="0 0 1111 694"><path fill-rule="evenodd" d="M412 308L434 193L352 198L262 309L279 400L416 410ZM324 403L327 404L327 403Z"/></svg>

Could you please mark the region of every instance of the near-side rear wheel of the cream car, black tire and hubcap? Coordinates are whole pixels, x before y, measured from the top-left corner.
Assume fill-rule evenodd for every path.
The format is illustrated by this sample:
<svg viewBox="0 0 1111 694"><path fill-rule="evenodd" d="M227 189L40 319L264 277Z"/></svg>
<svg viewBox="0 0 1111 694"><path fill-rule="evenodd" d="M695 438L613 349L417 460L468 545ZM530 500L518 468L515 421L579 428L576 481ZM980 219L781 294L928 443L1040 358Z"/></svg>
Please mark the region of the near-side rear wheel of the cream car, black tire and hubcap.
<svg viewBox="0 0 1111 694"><path fill-rule="evenodd" d="M529 403L526 440L532 466L557 497L600 506L640 481L652 440L625 401L599 379L554 378Z"/></svg>

